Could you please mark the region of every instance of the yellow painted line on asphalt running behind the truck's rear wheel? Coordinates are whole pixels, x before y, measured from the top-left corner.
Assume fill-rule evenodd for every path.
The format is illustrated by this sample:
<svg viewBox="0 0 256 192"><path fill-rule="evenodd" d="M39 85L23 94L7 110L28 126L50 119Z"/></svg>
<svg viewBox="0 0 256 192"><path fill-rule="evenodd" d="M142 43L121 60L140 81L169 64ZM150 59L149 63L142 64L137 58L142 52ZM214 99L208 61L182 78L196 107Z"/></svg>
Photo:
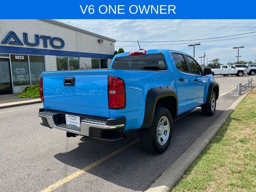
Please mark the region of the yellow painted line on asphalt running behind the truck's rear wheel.
<svg viewBox="0 0 256 192"><path fill-rule="evenodd" d="M48 186L47 188L43 189L41 192L50 192L50 191L55 190L56 188L59 188L60 186L64 185L65 183L67 183L67 182L71 181L72 179L82 175L84 172L87 172L87 171L91 170L92 168L98 166L99 164L102 164L104 161L112 158L113 156L115 156L115 155L119 154L120 152L126 150L127 148L129 148L130 146L136 144L139 141L140 141L140 139L136 139L136 140L130 142L126 146L123 146L123 147L119 148L118 150L116 150L116 151L108 154L107 156L105 156L105 157L103 157L103 158L101 158L101 159L91 163L90 165L82 168L81 170L79 170L79 171L77 171L77 172L75 172L75 173L65 177L64 179L62 179L62 180L60 180L60 181L58 181L58 182Z"/></svg>

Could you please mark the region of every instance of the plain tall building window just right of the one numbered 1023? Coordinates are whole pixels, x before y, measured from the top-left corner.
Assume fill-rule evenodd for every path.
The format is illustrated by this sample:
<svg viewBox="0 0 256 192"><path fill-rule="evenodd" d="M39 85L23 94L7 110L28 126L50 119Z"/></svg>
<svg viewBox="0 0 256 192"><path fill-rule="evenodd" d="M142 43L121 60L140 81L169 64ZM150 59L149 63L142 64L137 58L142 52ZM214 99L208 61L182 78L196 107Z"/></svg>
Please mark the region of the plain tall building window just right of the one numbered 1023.
<svg viewBox="0 0 256 192"><path fill-rule="evenodd" d="M29 56L31 84L39 84L41 74L45 71L44 56Z"/></svg>

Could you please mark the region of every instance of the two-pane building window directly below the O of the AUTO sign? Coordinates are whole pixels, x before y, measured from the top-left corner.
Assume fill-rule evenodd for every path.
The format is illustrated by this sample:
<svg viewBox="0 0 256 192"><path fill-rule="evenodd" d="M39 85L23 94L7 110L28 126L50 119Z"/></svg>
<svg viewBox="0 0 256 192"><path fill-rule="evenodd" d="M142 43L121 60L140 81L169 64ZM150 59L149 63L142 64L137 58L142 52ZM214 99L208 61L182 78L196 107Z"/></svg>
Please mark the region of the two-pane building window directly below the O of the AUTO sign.
<svg viewBox="0 0 256 192"><path fill-rule="evenodd" d="M79 58L78 57L56 57L57 70L78 70Z"/></svg>

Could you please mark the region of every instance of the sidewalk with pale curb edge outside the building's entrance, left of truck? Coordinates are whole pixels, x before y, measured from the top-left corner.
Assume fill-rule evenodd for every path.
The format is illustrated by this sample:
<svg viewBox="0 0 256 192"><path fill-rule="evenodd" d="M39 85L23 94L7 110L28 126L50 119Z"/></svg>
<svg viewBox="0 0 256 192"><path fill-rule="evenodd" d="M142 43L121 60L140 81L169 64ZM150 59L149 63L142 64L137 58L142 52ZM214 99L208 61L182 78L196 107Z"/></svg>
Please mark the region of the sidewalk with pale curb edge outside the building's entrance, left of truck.
<svg viewBox="0 0 256 192"><path fill-rule="evenodd" d="M18 98L17 94L0 95L0 109L42 102L40 98Z"/></svg>

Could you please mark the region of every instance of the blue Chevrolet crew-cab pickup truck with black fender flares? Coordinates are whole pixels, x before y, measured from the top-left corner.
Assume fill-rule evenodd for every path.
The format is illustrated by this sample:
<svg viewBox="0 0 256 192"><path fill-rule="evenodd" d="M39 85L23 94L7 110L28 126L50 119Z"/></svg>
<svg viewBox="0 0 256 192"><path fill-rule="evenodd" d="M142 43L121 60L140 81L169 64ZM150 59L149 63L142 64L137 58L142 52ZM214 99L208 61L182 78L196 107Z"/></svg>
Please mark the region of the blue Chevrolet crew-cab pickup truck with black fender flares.
<svg viewBox="0 0 256 192"><path fill-rule="evenodd" d="M114 56L110 68L43 72L41 125L68 137L117 141L137 130L143 148L164 152L172 118L202 108L215 112L219 85L210 68L173 50L139 50Z"/></svg>

